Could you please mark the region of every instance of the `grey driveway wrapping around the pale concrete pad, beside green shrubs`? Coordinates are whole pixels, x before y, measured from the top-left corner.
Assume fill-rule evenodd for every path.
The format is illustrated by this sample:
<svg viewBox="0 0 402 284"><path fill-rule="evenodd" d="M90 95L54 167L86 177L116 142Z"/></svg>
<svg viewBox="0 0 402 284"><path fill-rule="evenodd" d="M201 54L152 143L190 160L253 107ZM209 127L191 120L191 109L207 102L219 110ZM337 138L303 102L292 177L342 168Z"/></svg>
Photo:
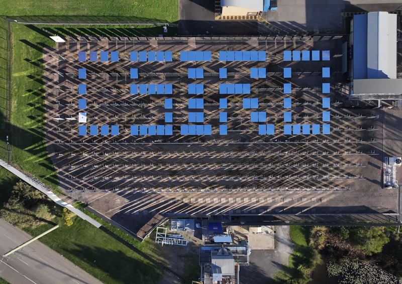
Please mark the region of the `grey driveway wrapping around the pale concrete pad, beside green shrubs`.
<svg viewBox="0 0 402 284"><path fill-rule="evenodd" d="M267 283L282 265L289 263L289 255L293 252L289 226L275 226L275 231L275 249L251 248L250 266L240 268L240 283Z"/></svg>

